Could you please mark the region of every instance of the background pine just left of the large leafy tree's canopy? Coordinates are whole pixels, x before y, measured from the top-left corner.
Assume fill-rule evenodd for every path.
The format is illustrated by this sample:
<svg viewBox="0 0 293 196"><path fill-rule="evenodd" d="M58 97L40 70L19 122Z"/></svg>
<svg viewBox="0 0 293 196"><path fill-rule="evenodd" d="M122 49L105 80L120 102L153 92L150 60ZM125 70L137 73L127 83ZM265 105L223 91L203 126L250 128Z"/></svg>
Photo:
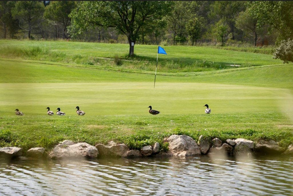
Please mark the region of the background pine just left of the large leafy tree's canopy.
<svg viewBox="0 0 293 196"><path fill-rule="evenodd" d="M75 1L52 1L49 6L46 6L44 17L55 22L57 25L62 25L63 39L67 39L67 27L70 25L71 18L69 14L72 9L76 8Z"/></svg>

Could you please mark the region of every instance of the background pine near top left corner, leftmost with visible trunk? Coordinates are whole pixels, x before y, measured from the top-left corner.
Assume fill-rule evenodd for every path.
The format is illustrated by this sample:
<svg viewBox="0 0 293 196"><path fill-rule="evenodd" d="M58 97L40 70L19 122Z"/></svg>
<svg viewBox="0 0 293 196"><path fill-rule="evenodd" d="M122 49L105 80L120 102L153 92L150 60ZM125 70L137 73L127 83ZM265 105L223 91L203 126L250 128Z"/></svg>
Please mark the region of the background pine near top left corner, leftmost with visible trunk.
<svg viewBox="0 0 293 196"><path fill-rule="evenodd" d="M39 27L44 9L44 5L38 1L17 1L12 9L12 17L18 19L19 27L28 32L28 39L31 39L32 30Z"/></svg>

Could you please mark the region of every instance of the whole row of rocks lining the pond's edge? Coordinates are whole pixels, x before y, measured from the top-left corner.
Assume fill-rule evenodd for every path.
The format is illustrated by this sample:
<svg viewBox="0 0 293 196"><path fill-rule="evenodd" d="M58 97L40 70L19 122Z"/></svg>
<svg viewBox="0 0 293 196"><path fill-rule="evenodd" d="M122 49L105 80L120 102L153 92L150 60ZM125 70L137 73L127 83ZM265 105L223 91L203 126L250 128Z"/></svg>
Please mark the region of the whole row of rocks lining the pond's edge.
<svg viewBox="0 0 293 196"><path fill-rule="evenodd" d="M164 138L164 143L168 143L169 150L162 152L160 144L144 146L140 150L131 150L125 144L118 144L110 141L107 145L96 144L92 146L88 143L74 143L65 140L56 145L50 152L45 152L45 148L31 148L23 156L23 150L18 147L0 148L1 159L26 157L49 157L51 159L70 158L98 158L103 156L111 157L149 157L149 156L198 156L198 155L250 155L251 153L293 155L293 145L287 149L280 148L275 141L259 141L255 143L243 138L227 139L224 143L218 138L212 141L200 136L198 141L186 135L172 135ZM0 160L1 160L0 159Z"/></svg>

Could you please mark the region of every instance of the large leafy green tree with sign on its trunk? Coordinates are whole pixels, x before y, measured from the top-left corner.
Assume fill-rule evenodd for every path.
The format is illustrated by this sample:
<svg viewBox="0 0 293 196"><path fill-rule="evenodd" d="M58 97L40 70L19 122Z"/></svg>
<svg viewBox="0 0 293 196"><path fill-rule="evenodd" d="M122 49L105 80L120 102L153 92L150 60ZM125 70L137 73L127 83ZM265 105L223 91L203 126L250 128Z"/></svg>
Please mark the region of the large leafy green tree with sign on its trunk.
<svg viewBox="0 0 293 196"><path fill-rule="evenodd" d="M141 28L156 25L170 5L168 1L81 1L69 15L70 31L74 36L95 26L115 27L127 36L131 56Z"/></svg>

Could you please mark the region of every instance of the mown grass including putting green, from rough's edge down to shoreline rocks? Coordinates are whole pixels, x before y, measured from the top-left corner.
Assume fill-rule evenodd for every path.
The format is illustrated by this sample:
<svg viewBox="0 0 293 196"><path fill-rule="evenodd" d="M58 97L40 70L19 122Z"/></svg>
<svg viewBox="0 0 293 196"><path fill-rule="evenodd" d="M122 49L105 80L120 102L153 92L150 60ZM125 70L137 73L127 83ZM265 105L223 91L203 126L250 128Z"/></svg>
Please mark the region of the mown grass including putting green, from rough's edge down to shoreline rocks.
<svg viewBox="0 0 293 196"><path fill-rule="evenodd" d="M154 89L150 72L53 64L0 60L0 146L27 150L46 146L45 137L50 144L114 139L140 148L173 133L292 143L292 65L161 73ZM202 114L205 103L211 115ZM148 114L148 105L162 113ZM18 106L25 116L14 115ZM47 106L67 115L47 116Z"/></svg>

